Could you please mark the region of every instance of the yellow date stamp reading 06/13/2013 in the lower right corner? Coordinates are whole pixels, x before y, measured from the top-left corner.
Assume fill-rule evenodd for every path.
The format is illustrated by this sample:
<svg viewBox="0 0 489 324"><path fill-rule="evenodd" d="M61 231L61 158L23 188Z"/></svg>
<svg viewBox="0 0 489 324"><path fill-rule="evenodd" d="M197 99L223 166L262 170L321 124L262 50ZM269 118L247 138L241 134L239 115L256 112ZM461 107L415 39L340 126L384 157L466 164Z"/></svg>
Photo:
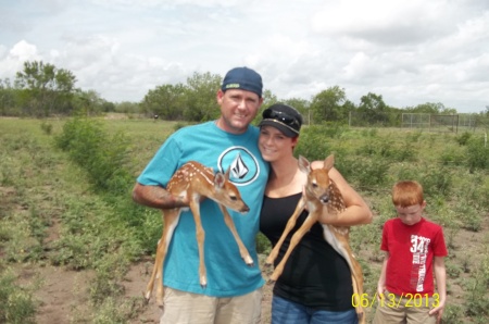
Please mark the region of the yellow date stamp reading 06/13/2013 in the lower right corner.
<svg viewBox="0 0 489 324"><path fill-rule="evenodd" d="M437 292L432 296L429 296L428 294L402 294L401 296L394 294L383 294L380 298L377 297L377 292L375 292L374 296L369 296L368 294L353 294L351 297L351 303L353 307L361 306L363 308L372 308L375 302L377 302L380 307L389 308L436 308L440 304L440 296Z"/></svg>

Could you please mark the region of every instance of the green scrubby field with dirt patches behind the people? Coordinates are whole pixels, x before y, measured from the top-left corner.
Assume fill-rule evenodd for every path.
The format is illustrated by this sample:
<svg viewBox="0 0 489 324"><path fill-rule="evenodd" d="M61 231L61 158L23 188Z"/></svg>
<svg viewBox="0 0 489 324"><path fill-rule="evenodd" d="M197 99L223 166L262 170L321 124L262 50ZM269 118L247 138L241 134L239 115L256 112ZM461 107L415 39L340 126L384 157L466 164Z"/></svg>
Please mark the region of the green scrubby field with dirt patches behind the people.
<svg viewBox="0 0 489 324"><path fill-rule="evenodd" d="M159 323L158 307L145 304L142 291L161 215L135 205L130 189L179 126L120 117L0 119L0 323ZM412 178L424 185L426 217L443 226L449 247L443 323L488 323L484 133L305 127L298 154L315 160L331 151L375 214L351 234L367 296L375 292L381 263L381 224L394 216L390 188ZM269 246L261 236L258 245L263 258ZM271 288L263 323L269 322ZM366 308L367 319L375 307Z"/></svg>

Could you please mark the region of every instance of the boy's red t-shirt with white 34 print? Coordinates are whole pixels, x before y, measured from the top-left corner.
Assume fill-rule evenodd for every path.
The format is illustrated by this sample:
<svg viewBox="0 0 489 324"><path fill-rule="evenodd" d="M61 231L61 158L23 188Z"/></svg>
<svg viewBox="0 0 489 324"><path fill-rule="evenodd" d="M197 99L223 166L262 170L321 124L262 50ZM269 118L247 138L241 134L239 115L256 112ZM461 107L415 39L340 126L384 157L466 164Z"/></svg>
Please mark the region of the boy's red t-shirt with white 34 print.
<svg viewBox="0 0 489 324"><path fill-rule="evenodd" d="M389 252L386 289L398 296L434 294L434 257L448 256L440 225L422 220L405 225L400 219L385 223L380 249Z"/></svg>

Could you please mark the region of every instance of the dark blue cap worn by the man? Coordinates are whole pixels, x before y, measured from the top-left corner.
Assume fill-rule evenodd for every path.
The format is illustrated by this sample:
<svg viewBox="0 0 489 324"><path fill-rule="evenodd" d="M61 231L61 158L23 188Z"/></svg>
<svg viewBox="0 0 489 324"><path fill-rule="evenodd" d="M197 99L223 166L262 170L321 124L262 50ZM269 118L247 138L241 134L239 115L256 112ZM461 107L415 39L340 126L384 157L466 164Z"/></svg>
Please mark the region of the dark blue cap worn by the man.
<svg viewBox="0 0 489 324"><path fill-rule="evenodd" d="M224 77L221 90L241 89L254 92L262 98L263 83L262 77L254 70L243 67L235 67L230 70Z"/></svg>

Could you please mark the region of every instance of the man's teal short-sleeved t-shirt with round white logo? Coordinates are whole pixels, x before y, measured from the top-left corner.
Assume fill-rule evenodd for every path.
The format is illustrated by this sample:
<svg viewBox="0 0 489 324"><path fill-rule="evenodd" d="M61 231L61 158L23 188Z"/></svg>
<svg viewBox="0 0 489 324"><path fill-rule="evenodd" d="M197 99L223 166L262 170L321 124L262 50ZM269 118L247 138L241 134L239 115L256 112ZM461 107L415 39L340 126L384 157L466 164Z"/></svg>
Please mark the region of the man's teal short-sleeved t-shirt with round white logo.
<svg viewBox="0 0 489 324"><path fill-rule="evenodd" d="M217 204L201 202L202 227L205 232L204 262L208 286L199 282L199 251L196 224L190 211L181 213L168 247L164 267L164 285L174 289L213 297L231 297L251 292L264 281L259 269L255 236L260 210L268 177L268 164L258 148L259 128L250 126L244 134L229 134L214 122L180 128L163 144L137 182L166 187L172 175L188 161L198 161L214 172L230 167L230 180L250 208L247 214L229 211L238 234L254 260L248 266L241 259L233 234L224 223Z"/></svg>

